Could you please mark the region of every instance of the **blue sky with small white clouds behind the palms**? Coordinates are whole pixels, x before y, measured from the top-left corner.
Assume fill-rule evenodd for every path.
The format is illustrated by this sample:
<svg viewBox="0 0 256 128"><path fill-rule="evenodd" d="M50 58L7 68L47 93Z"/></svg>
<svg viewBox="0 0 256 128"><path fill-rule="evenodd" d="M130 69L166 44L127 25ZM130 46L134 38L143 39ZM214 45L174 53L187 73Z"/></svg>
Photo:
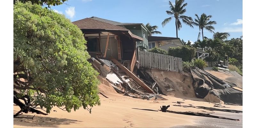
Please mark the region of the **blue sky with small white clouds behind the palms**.
<svg viewBox="0 0 256 128"><path fill-rule="evenodd" d="M174 0L171 0L174 2ZM242 0L185 0L187 12L184 14L195 19L195 13L212 15L211 20L217 22L214 32L229 32L230 38L243 35L243 1ZM65 4L52 6L52 10L64 14L71 21L91 16L129 23L150 23L157 25L162 35L176 37L175 20L162 27L161 23L169 10L168 0L68 0ZM196 41L199 28L190 28L182 23L178 31L180 39ZM204 31L204 36L212 38L212 33Z"/></svg>

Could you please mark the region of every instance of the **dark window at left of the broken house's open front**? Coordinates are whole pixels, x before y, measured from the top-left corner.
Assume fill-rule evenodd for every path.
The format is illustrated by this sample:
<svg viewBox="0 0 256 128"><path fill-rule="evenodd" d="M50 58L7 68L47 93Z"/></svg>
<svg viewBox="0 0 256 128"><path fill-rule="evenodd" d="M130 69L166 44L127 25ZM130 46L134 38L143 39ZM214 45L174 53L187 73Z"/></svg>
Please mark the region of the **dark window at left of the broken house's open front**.
<svg viewBox="0 0 256 128"><path fill-rule="evenodd" d="M87 40L87 51L88 52L100 52L100 42L98 38L89 38Z"/></svg>

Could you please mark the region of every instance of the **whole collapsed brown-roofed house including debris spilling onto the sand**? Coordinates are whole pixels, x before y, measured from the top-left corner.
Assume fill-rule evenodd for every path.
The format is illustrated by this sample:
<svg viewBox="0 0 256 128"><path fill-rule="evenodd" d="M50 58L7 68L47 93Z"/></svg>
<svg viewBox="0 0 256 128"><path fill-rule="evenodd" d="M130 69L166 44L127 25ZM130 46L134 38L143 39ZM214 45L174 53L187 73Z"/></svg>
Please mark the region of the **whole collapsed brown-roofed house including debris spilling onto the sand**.
<svg viewBox="0 0 256 128"><path fill-rule="evenodd" d="M150 85L132 73L136 63L136 42L144 41L142 37L132 34L129 29L92 18L77 20L73 24L84 33L92 66L117 92L148 100L166 100L157 95L157 86L148 87Z"/></svg>

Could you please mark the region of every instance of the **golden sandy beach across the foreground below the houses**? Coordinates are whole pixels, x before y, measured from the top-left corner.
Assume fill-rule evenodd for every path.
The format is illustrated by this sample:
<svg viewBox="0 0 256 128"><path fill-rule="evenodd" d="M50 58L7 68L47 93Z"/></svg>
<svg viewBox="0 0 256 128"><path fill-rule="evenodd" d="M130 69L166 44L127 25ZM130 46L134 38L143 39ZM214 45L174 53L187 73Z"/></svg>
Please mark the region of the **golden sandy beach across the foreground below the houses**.
<svg viewBox="0 0 256 128"><path fill-rule="evenodd" d="M221 120L222 122L236 122L241 124L241 121L230 121L226 119L215 119L209 117L200 117L200 116L188 116L181 114L173 113L164 113L161 111L146 111L138 110L132 108L140 109L153 109L159 110L162 105L170 105L171 107L168 110L172 111L191 111L191 112L201 112L201 113L223 113L218 111L209 111L199 108L184 108L177 105L177 101L182 101L181 105L193 105L193 106L204 106L204 107L213 107L213 103L203 102L203 99L197 98L187 98L190 100L185 100L181 98L176 98L173 96L163 96L168 100L141 100L135 99L128 96L123 96L114 91L110 91L111 88L107 85L100 84L99 88L105 86L105 89L108 90L108 93L101 91L109 98L103 97L99 94L101 99L100 106L94 106L92 108L92 114L89 111L80 108L76 111L71 111L68 113L57 107L52 108L52 111L49 115L43 116L38 115L34 119L26 118L14 118L14 127L191 127L191 126L207 126L207 120L211 124L211 120ZM110 90L109 90L110 89ZM201 101L195 101L201 100ZM234 109L242 110L242 106L231 106L231 105L222 105L225 109ZM213 107L215 108L215 107ZM216 107L218 108L218 107ZM20 108L18 106L13 107L14 112L17 113ZM56 111L53 111L56 110ZM224 112L227 113L227 112ZM233 113L229 113L233 114ZM32 117L35 114L28 113L23 114L23 117ZM225 115L225 114L224 114ZM242 113L240 113L242 118ZM20 116L20 117L21 117ZM228 116L228 115L227 115ZM200 122L201 121L201 122ZM202 122L206 124L202 125ZM201 123L201 124L200 124ZM211 125L210 125L211 126ZM238 126L239 127L239 126Z"/></svg>

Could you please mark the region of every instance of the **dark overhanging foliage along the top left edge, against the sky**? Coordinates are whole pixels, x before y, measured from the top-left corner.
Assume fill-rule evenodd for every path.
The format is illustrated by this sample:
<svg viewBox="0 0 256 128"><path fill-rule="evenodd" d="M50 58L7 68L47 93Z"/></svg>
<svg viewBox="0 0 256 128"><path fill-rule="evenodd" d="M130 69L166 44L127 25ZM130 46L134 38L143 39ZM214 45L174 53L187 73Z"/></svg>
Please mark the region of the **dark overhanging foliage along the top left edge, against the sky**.
<svg viewBox="0 0 256 128"><path fill-rule="evenodd" d="M48 5L48 7L50 7L50 5L55 6L55 5L63 4L65 1L68 1L68 0L13 0L13 4L15 4L17 1L20 1L22 3L26 3L30 1L32 4L39 4L41 6Z"/></svg>

